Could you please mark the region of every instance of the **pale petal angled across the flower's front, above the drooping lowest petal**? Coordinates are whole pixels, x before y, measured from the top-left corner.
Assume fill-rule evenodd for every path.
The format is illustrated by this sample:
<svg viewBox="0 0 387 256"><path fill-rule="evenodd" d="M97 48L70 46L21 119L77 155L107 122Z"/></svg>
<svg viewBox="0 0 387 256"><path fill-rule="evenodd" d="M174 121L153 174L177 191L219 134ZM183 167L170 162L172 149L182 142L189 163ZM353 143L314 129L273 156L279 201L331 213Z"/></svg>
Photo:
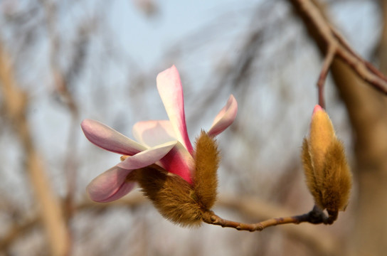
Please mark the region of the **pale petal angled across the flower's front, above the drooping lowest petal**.
<svg viewBox="0 0 387 256"><path fill-rule="evenodd" d="M127 159L122 161L120 164L117 164L118 167L122 169L139 169L145 166L156 163L162 159L169 151L171 151L174 146L179 143L177 141L167 142L159 146L154 146L151 149L135 154L134 156L129 156Z"/></svg>

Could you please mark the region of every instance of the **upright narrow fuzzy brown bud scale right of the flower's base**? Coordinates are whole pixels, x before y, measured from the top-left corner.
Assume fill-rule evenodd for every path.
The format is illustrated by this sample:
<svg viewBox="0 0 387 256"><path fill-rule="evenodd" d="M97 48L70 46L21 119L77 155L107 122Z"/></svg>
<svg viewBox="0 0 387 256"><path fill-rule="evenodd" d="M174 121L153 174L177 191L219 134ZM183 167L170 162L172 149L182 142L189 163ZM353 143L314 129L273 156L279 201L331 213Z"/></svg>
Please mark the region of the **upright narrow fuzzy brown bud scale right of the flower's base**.
<svg viewBox="0 0 387 256"><path fill-rule="evenodd" d="M209 210L216 201L219 151L215 139L201 132L196 139L194 189L203 208Z"/></svg>

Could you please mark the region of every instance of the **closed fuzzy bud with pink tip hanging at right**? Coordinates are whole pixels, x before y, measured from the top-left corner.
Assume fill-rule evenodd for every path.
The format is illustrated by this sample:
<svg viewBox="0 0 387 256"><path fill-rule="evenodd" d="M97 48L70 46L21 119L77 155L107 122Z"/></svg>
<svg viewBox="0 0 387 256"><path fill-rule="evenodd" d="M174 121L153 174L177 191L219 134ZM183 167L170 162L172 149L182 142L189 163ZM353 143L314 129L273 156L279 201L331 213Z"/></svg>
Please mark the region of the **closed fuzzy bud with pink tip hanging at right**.
<svg viewBox="0 0 387 256"><path fill-rule="evenodd" d="M314 107L310 136L302 144L302 164L317 206L331 212L345 210L352 186L344 145L334 134L327 112Z"/></svg>

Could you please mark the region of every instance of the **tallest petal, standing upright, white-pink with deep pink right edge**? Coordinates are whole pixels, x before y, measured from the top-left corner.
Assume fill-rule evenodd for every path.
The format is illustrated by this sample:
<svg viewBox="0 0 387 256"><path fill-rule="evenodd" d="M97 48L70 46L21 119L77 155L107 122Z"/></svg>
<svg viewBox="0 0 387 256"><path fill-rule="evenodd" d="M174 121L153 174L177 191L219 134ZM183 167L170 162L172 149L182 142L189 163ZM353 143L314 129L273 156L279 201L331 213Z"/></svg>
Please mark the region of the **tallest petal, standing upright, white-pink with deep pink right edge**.
<svg viewBox="0 0 387 256"><path fill-rule="evenodd" d="M157 75L157 90L159 90L159 95L172 127L174 127L177 139L192 154L194 149L189 141L186 128L183 88L179 72L174 65Z"/></svg>

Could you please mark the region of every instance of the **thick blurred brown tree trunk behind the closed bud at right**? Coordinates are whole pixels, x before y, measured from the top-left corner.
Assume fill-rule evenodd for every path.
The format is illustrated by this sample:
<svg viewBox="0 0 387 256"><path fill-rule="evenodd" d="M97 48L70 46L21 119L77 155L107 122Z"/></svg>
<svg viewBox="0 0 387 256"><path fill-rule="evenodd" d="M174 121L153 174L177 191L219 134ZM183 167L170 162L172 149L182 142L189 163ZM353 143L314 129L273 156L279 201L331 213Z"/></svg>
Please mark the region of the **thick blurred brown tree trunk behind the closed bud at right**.
<svg viewBox="0 0 387 256"><path fill-rule="evenodd" d="M297 15L324 55L327 46L299 1L290 0ZM383 6L386 7L386 1ZM382 47L386 53L386 27ZM381 54L381 56L386 54ZM386 58L381 60L386 68ZM382 70L382 72L385 70ZM387 252L387 100L386 96L367 85L349 65L335 59L332 76L346 105L354 132L355 163L353 172L359 194L351 201L355 208L354 230L349 234L349 255L386 255Z"/></svg>

